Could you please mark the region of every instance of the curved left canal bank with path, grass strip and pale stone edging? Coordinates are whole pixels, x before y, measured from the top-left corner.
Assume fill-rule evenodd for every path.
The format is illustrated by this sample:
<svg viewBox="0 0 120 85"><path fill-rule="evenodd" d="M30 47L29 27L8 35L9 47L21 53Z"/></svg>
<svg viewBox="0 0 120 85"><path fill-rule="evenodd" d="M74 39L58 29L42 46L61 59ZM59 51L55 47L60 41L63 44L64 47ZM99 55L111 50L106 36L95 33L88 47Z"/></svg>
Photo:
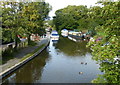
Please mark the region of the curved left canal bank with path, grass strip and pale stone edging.
<svg viewBox="0 0 120 85"><path fill-rule="evenodd" d="M11 59L6 64L0 66L0 68L2 68L2 72L0 73L0 79L14 72L16 69L20 68L28 61L32 60L48 45L49 38L43 38L40 42L37 43L36 46L22 49L22 51L16 55L16 58Z"/></svg>

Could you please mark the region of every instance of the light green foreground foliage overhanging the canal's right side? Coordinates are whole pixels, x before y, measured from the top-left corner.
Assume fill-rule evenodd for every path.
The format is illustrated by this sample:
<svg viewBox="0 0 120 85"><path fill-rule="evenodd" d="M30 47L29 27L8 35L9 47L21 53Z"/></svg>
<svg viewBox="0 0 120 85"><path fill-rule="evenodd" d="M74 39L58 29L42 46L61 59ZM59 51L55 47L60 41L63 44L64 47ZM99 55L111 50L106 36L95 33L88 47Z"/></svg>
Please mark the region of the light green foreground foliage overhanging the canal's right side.
<svg viewBox="0 0 120 85"><path fill-rule="evenodd" d="M95 16L102 16L104 24L96 27L98 32L103 32L102 40L90 41L88 46L93 50L93 59L100 64L100 70L104 72L94 83L120 83L120 2L103 3L101 13ZM96 35L94 39L98 39L101 35ZM101 81L102 80L102 81Z"/></svg>

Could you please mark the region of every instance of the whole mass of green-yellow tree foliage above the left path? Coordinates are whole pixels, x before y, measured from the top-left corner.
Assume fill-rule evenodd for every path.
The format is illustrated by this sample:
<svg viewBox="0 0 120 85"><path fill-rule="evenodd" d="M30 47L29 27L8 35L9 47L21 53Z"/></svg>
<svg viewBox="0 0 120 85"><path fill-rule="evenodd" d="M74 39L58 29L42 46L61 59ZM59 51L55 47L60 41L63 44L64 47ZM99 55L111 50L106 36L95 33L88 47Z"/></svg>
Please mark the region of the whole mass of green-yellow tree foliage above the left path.
<svg viewBox="0 0 120 85"><path fill-rule="evenodd" d="M15 41L16 47L21 37L43 34L43 21L48 18L51 7L40 2L4 2L1 1L1 19L3 43ZM42 30L42 31L41 31Z"/></svg>

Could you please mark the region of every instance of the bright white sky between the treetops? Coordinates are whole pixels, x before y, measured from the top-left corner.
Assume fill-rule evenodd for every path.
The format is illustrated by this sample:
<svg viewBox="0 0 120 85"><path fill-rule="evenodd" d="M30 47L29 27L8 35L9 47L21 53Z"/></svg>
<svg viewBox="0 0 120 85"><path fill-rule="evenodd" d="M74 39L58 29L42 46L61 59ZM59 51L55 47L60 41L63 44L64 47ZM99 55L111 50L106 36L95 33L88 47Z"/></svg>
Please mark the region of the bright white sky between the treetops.
<svg viewBox="0 0 120 85"><path fill-rule="evenodd" d="M68 5L87 5L87 7L95 6L98 0L45 0L52 6L52 11L49 13L49 16L55 16L55 11Z"/></svg>

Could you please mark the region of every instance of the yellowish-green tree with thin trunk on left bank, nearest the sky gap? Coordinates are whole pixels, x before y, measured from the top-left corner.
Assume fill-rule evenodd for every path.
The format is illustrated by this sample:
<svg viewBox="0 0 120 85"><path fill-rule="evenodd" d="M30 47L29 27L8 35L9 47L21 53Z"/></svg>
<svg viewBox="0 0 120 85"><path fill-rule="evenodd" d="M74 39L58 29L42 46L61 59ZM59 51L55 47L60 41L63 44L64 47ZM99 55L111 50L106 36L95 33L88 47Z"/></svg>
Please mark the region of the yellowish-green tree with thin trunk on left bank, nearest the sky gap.
<svg viewBox="0 0 120 85"><path fill-rule="evenodd" d="M22 16L25 19L25 29L28 35L28 44L30 43L30 35L44 32L43 21L48 17L51 10L48 3L45 2L29 2L22 9Z"/></svg>

